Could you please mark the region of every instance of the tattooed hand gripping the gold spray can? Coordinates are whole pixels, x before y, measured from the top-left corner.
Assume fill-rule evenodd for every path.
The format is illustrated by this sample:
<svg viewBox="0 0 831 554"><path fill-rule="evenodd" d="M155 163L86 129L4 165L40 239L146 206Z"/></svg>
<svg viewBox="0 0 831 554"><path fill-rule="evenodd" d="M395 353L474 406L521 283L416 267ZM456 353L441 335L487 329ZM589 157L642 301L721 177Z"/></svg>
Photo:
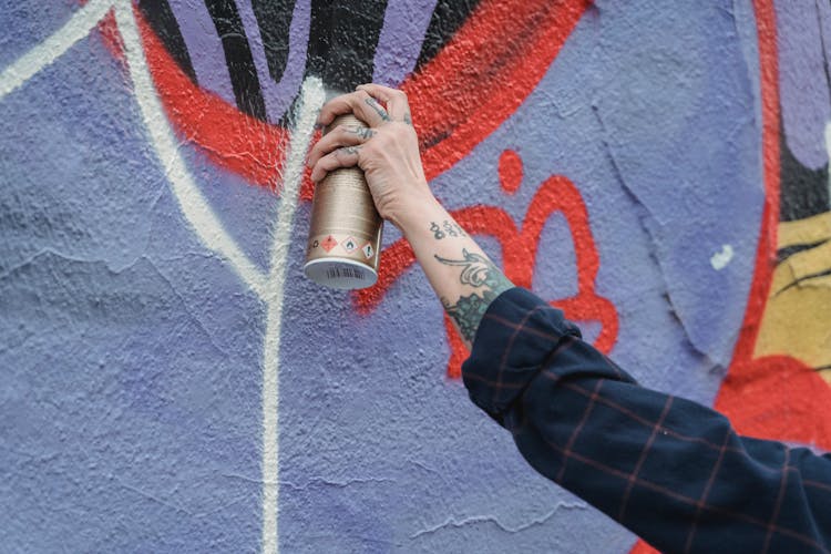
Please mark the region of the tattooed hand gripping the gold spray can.
<svg viewBox="0 0 831 554"><path fill-rule="evenodd" d="M347 113L369 127L341 125L324 135L309 152L311 178L318 183L331 171L359 166L378 213L406 233L413 214L435 202L421 166L407 95L387 86L362 84L327 102L318 123L329 125Z"/></svg>

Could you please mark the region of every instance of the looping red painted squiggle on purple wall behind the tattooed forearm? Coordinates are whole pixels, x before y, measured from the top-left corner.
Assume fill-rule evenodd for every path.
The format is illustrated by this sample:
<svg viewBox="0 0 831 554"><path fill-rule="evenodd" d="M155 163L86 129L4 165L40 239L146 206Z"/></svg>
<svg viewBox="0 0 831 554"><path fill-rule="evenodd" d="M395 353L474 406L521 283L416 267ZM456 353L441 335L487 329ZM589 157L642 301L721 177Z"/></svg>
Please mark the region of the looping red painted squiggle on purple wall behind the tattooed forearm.
<svg viewBox="0 0 831 554"><path fill-rule="evenodd" d="M598 321L601 332L595 346L608 352L617 340L617 310L607 298L595 291L594 283L599 269L599 257L588 226L585 203L571 181L563 176L554 176L543 183L531 201L522 230L516 228L505 211L495 206L471 206L455 211L451 215L469 233L495 238L502 246L503 268L507 278L520 287L531 288L542 230L555 213L564 215L574 239L577 294L571 298L553 300L551 305L562 309L570 319ZM359 312L371 312L394 281L416 263L416 255L404 239L396 242L384 250L383 257L387 269L379 276L379 281L355 295ZM459 378L468 351L447 316L445 328L451 347L448 376Z"/></svg>

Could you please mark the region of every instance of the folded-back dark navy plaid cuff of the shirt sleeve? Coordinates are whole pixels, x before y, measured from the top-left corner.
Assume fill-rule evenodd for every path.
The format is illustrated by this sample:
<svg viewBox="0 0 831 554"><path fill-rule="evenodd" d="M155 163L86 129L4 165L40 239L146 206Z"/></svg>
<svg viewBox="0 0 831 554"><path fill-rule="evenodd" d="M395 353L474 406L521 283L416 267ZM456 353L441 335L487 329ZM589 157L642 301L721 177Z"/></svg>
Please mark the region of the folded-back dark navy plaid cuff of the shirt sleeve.
<svg viewBox="0 0 831 554"><path fill-rule="evenodd" d="M488 307L462 365L470 398L502 423L502 413L525 390L565 336L579 329L524 288L502 293Z"/></svg>

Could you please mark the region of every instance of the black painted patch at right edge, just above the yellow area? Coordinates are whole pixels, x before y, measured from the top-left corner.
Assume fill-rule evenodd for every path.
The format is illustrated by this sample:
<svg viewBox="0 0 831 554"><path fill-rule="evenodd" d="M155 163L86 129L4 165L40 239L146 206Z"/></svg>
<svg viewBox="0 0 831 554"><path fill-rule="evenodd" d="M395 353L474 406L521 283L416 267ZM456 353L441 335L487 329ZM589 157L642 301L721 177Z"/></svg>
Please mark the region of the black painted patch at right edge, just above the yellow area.
<svg viewBox="0 0 831 554"><path fill-rule="evenodd" d="M828 164L819 170L802 165L780 137L781 182L779 218L782 222L804 219L829 211Z"/></svg>

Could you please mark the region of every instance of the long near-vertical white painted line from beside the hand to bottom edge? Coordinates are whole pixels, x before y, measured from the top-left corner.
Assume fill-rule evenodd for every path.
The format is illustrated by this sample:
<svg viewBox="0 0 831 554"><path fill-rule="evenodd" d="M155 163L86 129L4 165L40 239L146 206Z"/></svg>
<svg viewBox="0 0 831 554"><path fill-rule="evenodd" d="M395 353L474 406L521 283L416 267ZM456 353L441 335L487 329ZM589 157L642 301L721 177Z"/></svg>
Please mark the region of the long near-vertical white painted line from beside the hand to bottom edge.
<svg viewBox="0 0 831 554"><path fill-rule="evenodd" d="M306 153L315 133L315 121L325 100L318 78L306 79L297 106L297 124L286 152L280 207L274 229L271 266L266 284L266 336L263 350L263 553L278 551L279 509L279 366L286 267Z"/></svg>

